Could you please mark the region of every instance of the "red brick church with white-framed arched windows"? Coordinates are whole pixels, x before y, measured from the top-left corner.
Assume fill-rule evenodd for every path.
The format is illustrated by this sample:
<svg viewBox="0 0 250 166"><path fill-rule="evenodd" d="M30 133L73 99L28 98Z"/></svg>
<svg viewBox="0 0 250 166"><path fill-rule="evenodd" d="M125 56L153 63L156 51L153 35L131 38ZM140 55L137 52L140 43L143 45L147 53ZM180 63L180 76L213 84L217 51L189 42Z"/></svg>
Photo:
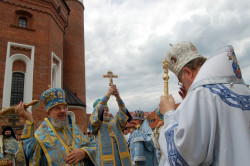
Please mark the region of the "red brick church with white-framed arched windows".
<svg viewBox="0 0 250 166"><path fill-rule="evenodd" d="M82 0L0 0L0 109L40 99L49 85L65 90L69 110L86 131ZM42 104L33 117L38 127ZM0 131L10 125L21 132L22 124L15 114L0 117Z"/></svg>

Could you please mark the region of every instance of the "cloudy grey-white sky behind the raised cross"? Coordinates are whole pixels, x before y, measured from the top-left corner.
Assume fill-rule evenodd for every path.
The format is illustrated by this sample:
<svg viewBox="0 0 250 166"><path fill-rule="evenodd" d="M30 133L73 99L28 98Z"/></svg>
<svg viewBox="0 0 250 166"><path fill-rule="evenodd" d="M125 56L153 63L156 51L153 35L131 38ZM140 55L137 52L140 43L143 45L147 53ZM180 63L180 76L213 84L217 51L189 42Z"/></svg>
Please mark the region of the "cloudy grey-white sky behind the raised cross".
<svg viewBox="0 0 250 166"><path fill-rule="evenodd" d="M209 57L233 45L243 79L250 84L248 0L85 0L87 112L108 90L108 70L129 111L152 112L163 95L162 60L170 46L191 41ZM169 91L181 101L169 72ZM114 97L110 112L118 110Z"/></svg>

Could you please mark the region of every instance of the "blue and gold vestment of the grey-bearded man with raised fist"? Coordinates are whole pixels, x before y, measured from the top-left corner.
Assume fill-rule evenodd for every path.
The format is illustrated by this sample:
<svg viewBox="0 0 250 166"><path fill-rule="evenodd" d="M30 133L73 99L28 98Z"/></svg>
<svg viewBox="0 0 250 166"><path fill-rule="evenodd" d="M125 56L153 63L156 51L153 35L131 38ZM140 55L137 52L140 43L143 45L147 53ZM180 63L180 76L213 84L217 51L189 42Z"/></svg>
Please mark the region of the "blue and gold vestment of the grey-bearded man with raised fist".
<svg viewBox="0 0 250 166"><path fill-rule="evenodd" d="M88 156L76 165L88 166L88 161L95 162L95 142L89 142L82 131L71 122L63 129L56 129L45 118L43 123L34 133L34 125L26 121L22 134L20 152L18 153L18 165L66 165L65 158L71 150L81 148Z"/></svg>

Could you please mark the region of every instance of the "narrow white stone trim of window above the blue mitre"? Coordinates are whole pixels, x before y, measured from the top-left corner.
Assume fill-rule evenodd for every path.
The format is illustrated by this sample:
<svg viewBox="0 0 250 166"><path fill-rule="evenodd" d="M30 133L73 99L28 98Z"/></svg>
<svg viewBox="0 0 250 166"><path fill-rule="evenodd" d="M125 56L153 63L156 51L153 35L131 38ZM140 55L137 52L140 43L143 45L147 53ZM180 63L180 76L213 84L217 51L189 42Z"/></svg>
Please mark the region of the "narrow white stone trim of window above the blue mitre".
<svg viewBox="0 0 250 166"><path fill-rule="evenodd" d="M53 63L54 58L56 59L56 61L58 61L58 65ZM56 79L54 80L55 87L53 87L53 70L55 70L55 74L56 74ZM62 87L62 61L53 52L51 53L51 87L53 88Z"/></svg>

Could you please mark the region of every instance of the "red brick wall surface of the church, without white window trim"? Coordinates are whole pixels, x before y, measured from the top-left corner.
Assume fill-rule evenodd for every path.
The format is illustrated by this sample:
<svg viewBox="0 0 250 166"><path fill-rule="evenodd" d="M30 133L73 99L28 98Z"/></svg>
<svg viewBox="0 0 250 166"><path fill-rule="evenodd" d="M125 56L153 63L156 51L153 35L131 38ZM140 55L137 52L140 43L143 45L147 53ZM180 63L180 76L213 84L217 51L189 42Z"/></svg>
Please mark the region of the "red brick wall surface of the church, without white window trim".
<svg viewBox="0 0 250 166"><path fill-rule="evenodd" d="M80 23L80 26L75 24L78 19L83 19L83 5L79 4L79 2L76 0L70 1L70 4L72 5L71 16L73 16L73 19L76 16L74 14L74 10L81 9L82 12L80 18L74 20L72 25L70 24L70 27L66 28L68 30L66 31L66 33L72 35L72 38L67 38L67 41L71 43L72 40L72 43L74 43L72 50L70 50L71 47L66 48L69 49L67 50L67 54L76 55L74 56L74 61L71 61L69 57L63 57L65 37L64 29L67 25L68 10L62 0L0 1L0 108L2 108L3 102L3 80L5 73L5 62L8 42L31 45L35 47L33 99L40 99L41 93L48 89L48 85L51 84L51 54L53 52L58 58L60 58L62 62L63 60L69 61L64 62L64 64L67 65L68 69L72 68L73 70L67 70L65 78L67 80L70 80L73 77L74 80L68 81L67 86L70 89L72 88L72 90L77 93L77 96L82 99L83 102L86 102L83 20ZM19 27L19 17L27 18L26 28ZM79 40L79 34L81 34L81 39L80 42L77 43L76 41ZM10 50L10 55L14 54L23 54L28 58L31 58L31 50L23 49L21 47L12 47ZM81 61L81 63L78 63L79 61ZM76 65L78 66L78 68L74 68L74 66ZM82 68L82 70L80 71L81 81L79 81L79 65ZM13 71L24 72L25 70L25 64L22 61L14 62ZM77 76L74 76L76 74ZM78 82L78 84L74 83L75 81ZM78 126L84 131L84 115L86 114L85 108L75 109L74 112L77 117L77 123L79 123ZM40 104L33 112L33 116L36 126L38 127L46 116L46 111L42 104ZM3 125L3 123L10 125L7 120L3 120L3 118L0 118L0 126ZM17 123L19 125L20 123L23 123L23 121Z"/></svg>

